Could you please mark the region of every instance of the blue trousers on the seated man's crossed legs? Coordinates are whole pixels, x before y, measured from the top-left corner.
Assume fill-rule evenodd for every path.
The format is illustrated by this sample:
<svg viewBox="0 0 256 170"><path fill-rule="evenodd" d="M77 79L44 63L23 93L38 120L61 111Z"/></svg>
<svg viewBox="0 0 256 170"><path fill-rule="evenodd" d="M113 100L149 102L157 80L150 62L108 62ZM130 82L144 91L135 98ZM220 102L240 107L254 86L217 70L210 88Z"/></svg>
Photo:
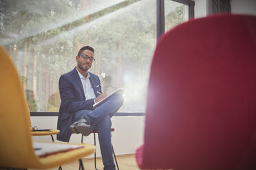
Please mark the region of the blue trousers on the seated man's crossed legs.
<svg viewBox="0 0 256 170"><path fill-rule="evenodd" d="M74 121L85 117L94 130L98 130L98 142L105 170L116 169L111 144L111 117L122 106L122 95L114 95L95 110L79 110Z"/></svg>

